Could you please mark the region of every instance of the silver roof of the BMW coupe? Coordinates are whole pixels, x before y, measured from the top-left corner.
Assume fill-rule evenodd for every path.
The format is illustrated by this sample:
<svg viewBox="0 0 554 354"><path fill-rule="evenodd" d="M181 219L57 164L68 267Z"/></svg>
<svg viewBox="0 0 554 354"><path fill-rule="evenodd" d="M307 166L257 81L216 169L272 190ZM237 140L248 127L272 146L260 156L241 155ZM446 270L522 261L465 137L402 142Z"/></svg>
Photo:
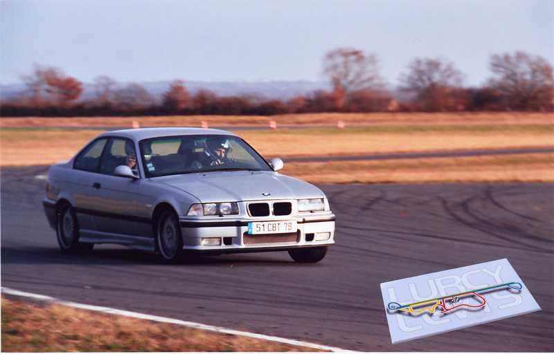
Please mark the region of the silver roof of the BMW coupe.
<svg viewBox="0 0 554 354"><path fill-rule="evenodd" d="M122 129L108 131L107 133L100 134L100 136L122 136L125 138L131 138L136 141L149 138L159 138L162 136L197 136L197 135L226 135L236 136L231 131L222 129L206 129L206 128L188 128L188 127L163 127L163 128L139 128L139 129Z"/></svg>

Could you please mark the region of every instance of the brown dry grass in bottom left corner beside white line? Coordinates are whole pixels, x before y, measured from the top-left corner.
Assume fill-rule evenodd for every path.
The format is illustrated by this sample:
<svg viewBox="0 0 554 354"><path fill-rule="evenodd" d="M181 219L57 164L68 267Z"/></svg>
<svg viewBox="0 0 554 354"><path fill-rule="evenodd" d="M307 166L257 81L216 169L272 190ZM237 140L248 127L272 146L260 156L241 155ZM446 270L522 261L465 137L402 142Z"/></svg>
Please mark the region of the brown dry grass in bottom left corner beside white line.
<svg viewBox="0 0 554 354"><path fill-rule="evenodd" d="M314 351L142 319L2 298L3 352Z"/></svg>

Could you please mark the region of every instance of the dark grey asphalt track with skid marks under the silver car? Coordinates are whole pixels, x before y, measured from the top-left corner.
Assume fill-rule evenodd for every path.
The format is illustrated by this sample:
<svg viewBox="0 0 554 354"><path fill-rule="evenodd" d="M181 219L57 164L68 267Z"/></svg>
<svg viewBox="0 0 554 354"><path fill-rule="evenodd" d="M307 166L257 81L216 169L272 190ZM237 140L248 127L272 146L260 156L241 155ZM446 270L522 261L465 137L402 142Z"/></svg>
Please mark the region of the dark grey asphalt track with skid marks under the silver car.
<svg viewBox="0 0 554 354"><path fill-rule="evenodd" d="M47 167L1 171L1 285L86 304L359 351L552 351L554 185L323 185L337 244L158 264L97 245L63 256L42 211ZM508 258L542 311L391 344L383 281Z"/></svg>

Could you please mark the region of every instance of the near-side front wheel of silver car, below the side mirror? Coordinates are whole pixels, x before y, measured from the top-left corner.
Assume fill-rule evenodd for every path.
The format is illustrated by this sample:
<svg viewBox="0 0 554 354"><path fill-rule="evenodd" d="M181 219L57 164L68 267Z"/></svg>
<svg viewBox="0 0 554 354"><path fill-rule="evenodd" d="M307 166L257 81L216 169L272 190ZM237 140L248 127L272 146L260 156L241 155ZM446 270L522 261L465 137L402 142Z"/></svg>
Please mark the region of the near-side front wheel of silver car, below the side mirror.
<svg viewBox="0 0 554 354"><path fill-rule="evenodd" d="M183 254L183 237L177 214L163 212L156 227L156 249L163 263L174 263Z"/></svg>

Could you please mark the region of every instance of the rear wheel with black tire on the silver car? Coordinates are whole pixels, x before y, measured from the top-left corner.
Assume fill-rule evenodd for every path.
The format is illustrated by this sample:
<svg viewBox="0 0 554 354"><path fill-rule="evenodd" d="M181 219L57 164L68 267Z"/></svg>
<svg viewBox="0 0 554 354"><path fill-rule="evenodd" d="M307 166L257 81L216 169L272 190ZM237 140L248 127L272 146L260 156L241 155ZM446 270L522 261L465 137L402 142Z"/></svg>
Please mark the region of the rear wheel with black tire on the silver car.
<svg viewBox="0 0 554 354"><path fill-rule="evenodd" d="M84 254L91 252L94 243L79 242L79 224L71 205L60 207L56 217L57 244L64 254Z"/></svg>

